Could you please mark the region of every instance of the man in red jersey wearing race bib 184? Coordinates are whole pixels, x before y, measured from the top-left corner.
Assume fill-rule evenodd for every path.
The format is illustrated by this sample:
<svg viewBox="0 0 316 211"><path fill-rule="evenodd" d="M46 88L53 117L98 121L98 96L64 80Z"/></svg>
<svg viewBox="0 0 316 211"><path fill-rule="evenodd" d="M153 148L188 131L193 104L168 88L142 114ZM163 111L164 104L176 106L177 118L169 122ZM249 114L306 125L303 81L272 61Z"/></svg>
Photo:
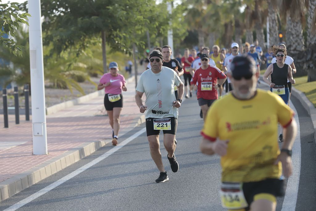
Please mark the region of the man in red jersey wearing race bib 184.
<svg viewBox="0 0 316 211"><path fill-rule="evenodd" d="M198 83L197 100L204 120L209 107L218 99L217 89L224 84L226 75L216 66L209 65L208 55L202 54L200 58L202 66L194 72L191 84Z"/></svg>

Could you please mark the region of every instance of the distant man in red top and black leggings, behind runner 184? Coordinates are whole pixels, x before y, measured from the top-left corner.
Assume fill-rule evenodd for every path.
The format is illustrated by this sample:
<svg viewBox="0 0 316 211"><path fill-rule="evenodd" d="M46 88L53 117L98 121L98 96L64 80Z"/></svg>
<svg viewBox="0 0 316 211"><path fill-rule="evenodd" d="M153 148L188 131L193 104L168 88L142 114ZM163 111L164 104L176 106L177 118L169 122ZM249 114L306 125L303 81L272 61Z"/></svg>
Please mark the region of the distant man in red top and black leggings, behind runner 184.
<svg viewBox="0 0 316 211"><path fill-rule="evenodd" d="M185 98L189 98L189 92L188 92L188 86L190 90L190 97L192 97L192 89L190 87L190 81L191 81L191 74L190 74L190 69L191 69L191 64L193 62L194 58L190 56L190 50L189 48L184 49L184 57L181 59L182 67L184 69L184 91L185 91Z"/></svg>

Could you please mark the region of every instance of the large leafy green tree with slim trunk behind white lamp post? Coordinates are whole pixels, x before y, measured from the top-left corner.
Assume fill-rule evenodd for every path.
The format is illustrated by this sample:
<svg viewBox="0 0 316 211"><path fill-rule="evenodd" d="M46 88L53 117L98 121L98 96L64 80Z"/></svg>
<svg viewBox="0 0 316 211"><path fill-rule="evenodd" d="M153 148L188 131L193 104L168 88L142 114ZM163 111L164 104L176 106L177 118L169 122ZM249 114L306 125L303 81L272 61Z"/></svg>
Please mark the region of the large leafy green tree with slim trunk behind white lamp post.
<svg viewBox="0 0 316 211"><path fill-rule="evenodd" d="M27 9L27 3L23 5ZM144 18L152 15L155 7L154 0L42 0L41 13L46 18L43 31L47 34L43 44L53 43L52 52L58 55L73 48L79 56L95 44L95 38L101 38L106 72L106 44L113 51L127 53L131 52L131 43L142 45L137 35L146 26L155 25Z"/></svg>

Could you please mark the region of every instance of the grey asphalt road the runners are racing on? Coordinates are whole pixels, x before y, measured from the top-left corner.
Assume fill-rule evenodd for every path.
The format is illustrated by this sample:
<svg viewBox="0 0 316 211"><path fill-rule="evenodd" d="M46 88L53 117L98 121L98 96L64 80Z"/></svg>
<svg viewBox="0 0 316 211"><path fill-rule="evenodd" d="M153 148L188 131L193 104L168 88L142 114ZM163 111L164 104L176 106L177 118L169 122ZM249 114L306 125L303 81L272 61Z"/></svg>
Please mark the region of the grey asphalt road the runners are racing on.
<svg viewBox="0 0 316 211"><path fill-rule="evenodd" d="M312 123L300 102L292 97L292 103L297 110L301 129L300 175L293 178L294 181L299 181L295 210L316 210L316 152ZM170 169L161 136L161 153L169 181L155 183L159 171L150 157L146 133L142 133L99 163L17 210L225 210L218 194L220 159L218 156L203 155L199 150L200 130L203 126L199 112L195 96L185 100L179 110L176 135L178 145L175 151L179 162L177 173ZM134 128L120 137L120 140L127 139L144 127L143 124ZM112 152L114 148L105 146L87 158L0 202L0 210L38 193L104 153ZM284 197L278 198L277 210L282 209L283 199ZM294 210L294 207L287 210Z"/></svg>

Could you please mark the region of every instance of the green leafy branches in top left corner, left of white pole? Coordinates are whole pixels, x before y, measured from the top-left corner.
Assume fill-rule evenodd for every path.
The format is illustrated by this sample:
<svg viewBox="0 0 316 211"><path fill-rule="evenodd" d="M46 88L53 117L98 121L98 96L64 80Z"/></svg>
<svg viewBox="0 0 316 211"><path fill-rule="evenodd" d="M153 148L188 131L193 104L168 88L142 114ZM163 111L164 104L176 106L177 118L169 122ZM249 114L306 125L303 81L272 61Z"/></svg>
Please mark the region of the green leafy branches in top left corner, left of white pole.
<svg viewBox="0 0 316 211"><path fill-rule="evenodd" d="M27 16L30 16L28 13L17 13L17 10L20 10L17 4L12 2L9 6L9 4L3 4L0 0L0 46L8 47L15 55L22 53L22 47L17 45L13 39L15 31L19 29L19 23L28 25ZM12 36L12 38L7 35Z"/></svg>

